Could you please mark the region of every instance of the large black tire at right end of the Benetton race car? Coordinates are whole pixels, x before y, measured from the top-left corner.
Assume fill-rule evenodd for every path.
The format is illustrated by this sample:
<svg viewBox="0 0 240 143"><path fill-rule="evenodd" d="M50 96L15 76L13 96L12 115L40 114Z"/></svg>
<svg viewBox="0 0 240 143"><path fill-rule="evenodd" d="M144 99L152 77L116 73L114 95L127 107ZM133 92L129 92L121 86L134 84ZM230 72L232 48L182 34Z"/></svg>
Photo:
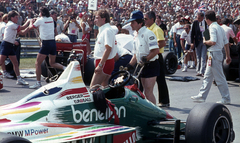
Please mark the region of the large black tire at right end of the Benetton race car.
<svg viewBox="0 0 240 143"><path fill-rule="evenodd" d="M185 129L187 143L230 143L234 136L232 117L226 106L202 103L190 111Z"/></svg>

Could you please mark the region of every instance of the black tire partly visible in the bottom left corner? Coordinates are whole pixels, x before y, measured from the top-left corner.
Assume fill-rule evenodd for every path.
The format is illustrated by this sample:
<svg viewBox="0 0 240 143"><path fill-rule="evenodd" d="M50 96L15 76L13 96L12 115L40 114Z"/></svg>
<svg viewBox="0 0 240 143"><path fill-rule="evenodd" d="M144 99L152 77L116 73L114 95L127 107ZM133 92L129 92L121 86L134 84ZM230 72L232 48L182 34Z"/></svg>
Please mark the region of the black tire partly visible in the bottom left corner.
<svg viewBox="0 0 240 143"><path fill-rule="evenodd" d="M0 132L0 143L31 143L29 140Z"/></svg>

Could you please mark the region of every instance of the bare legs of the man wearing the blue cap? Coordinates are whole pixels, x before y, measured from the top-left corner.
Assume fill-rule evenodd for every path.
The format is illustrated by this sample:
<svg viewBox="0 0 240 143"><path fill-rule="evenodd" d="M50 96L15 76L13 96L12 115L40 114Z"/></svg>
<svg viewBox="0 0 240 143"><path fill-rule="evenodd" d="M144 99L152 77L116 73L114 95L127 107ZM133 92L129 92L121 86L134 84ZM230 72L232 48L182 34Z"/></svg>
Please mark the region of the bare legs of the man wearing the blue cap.
<svg viewBox="0 0 240 143"><path fill-rule="evenodd" d="M141 78L143 90L146 98L156 105L156 98L153 94L153 88L157 77Z"/></svg>

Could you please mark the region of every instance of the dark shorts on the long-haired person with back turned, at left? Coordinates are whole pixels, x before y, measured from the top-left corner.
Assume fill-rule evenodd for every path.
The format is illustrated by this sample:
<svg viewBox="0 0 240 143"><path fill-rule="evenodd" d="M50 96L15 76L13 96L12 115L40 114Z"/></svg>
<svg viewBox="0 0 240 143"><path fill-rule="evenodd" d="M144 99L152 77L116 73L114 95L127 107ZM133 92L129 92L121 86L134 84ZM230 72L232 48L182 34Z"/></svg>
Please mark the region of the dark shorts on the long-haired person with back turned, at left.
<svg viewBox="0 0 240 143"><path fill-rule="evenodd" d="M40 49L39 53L43 55L56 55L56 41L55 40L43 40L42 41L42 48Z"/></svg>

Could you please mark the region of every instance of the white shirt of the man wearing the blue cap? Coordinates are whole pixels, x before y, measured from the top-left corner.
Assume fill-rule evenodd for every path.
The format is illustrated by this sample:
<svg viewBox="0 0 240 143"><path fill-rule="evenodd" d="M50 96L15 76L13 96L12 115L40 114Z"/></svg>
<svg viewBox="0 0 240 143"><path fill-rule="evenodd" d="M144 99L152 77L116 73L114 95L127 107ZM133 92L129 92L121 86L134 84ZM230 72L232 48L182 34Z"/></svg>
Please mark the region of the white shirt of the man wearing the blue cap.
<svg viewBox="0 0 240 143"><path fill-rule="evenodd" d="M147 56L152 49L158 49L157 37L155 34L143 26L136 32L134 39L133 54L136 55L137 62L141 61L143 56ZM155 61L158 59L158 55L150 59L149 61Z"/></svg>

